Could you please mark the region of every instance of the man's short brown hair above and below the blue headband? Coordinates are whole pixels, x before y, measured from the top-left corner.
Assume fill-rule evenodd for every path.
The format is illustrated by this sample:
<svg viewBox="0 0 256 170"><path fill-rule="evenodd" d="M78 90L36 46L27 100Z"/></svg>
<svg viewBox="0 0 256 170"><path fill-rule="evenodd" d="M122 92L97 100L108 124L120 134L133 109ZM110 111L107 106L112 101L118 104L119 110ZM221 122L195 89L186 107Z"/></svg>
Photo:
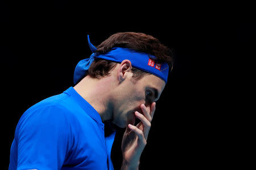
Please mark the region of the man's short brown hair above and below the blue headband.
<svg viewBox="0 0 256 170"><path fill-rule="evenodd" d="M138 52L148 53L156 57L157 63L167 63L170 68L172 68L174 63L171 49L160 43L158 39L151 35L138 32L118 32L98 45L96 54L105 54L111 51L113 47L129 48ZM108 76L110 74L109 71L116 65L117 63L113 61L95 59L90 65L88 75L98 79ZM136 68L132 68L131 72L135 80L139 80L144 75L150 74Z"/></svg>

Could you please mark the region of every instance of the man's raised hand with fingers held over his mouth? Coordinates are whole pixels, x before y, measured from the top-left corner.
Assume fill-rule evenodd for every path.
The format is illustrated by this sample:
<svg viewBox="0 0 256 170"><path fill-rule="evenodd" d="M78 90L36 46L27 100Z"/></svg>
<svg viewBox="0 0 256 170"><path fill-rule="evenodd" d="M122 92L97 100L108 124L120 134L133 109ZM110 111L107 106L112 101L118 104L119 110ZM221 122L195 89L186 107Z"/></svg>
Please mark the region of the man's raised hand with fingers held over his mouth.
<svg viewBox="0 0 256 170"><path fill-rule="evenodd" d="M139 122L137 126L129 124L126 127L122 139L123 164L121 169L138 169L139 159L147 144L147 136L155 113L155 105L155 102L148 107L142 104L141 110L143 114L135 111L135 116L140 119L141 122Z"/></svg>

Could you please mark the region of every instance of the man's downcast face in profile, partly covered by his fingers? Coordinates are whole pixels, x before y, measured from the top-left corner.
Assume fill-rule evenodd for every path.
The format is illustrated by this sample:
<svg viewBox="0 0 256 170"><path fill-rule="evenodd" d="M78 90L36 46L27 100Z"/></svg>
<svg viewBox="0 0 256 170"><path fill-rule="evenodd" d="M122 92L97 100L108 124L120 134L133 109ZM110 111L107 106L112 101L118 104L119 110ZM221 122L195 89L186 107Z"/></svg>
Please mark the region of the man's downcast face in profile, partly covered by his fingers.
<svg viewBox="0 0 256 170"><path fill-rule="evenodd" d="M136 82L131 79L131 75L119 85L115 95L113 123L119 127L126 127L129 123L134 125L135 111L143 114L140 106L143 103L150 106L156 102L166 85L153 74L145 75Z"/></svg>

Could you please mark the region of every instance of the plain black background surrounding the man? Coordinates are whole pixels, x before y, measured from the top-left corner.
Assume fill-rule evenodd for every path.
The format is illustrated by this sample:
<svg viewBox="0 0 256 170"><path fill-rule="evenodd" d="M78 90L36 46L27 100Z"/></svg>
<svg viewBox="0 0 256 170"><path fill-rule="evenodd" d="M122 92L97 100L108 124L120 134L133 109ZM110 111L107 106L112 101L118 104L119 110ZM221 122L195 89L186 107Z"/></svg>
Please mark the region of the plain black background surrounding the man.
<svg viewBox="0 0 256 170"><path fill-rule="evenodd" d="M3 167L20 116L73 86L76 64L116 32L155 36L175 55L157 103L141 169L228 168L241 165L231 125L234 87L255 48L255 19L240 3L1 2ZM236 79L237 78L237 79ZM230 83L232 82L232 83ZM233 84L234 82L234 84ZM122 130L112 157L121 166ZM233 138L232 138L233 139ZM236 149L234 149L236 148Z"/></svg>

